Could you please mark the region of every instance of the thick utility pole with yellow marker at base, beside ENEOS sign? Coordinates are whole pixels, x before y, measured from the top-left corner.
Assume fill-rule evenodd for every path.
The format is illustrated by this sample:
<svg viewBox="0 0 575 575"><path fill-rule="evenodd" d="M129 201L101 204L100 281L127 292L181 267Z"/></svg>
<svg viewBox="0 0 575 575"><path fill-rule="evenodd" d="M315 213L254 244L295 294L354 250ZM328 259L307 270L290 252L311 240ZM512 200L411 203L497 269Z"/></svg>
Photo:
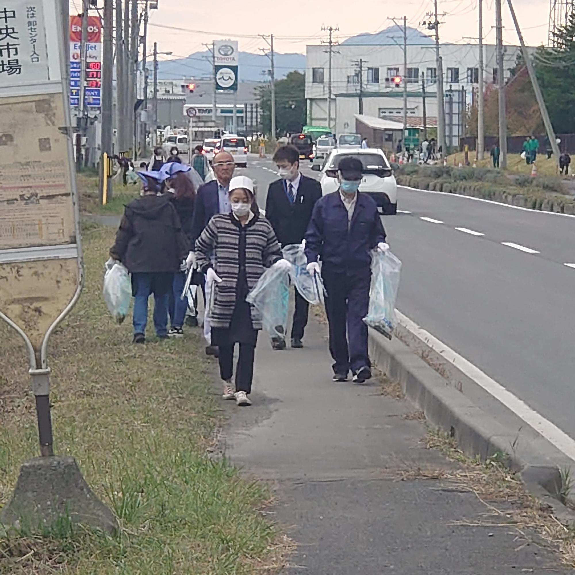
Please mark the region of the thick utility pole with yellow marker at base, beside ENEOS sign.
<svg viewBox="0 0 575 575"><path fill-rule="evenodd" d="M114 50L113 50L113 0L104 0L104 47L102 51L102 155L100 156L100 198L104 190L104 178L106 178L106 189L108 197L111 197L110 178L107 166L102 162L104 152L112 156L112 106L113 106L113 72L114 72Z"/></svg>

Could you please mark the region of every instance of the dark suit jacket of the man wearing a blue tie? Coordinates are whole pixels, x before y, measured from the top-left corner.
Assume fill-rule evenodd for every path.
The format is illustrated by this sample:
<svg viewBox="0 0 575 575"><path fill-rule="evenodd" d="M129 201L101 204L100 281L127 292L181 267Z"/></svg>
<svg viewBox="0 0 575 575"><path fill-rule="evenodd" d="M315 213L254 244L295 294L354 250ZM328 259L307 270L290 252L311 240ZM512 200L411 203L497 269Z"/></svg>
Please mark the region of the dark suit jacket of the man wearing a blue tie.
<svg viewBox="0 0 575 575"><path fill-rule="evenodd" d="M285 186L283 179L271 182L266 200L266 218L282 247L301 243L312 218L313 206L321 198L320 183L303 174L293 204Z"/></svg>

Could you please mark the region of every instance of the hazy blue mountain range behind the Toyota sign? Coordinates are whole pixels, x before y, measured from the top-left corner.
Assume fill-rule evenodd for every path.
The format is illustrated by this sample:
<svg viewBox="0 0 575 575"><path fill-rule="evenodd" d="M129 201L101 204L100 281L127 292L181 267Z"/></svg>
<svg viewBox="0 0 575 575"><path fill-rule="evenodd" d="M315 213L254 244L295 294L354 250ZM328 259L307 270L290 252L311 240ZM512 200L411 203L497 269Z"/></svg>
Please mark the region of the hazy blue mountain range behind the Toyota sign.
<svg viewBox="0 0 575 575"><path fill-rule="evenodd" d="M263 72L270 69L269 58L262 54L239 52L240 81L261 82L267 76ZM292 70L305 72L304 54L275 54L275 77L283 78ZM164 60L158 62L158 78L201 78L212 74L212 55L209 51L194 52L187 58Z"/></svg>

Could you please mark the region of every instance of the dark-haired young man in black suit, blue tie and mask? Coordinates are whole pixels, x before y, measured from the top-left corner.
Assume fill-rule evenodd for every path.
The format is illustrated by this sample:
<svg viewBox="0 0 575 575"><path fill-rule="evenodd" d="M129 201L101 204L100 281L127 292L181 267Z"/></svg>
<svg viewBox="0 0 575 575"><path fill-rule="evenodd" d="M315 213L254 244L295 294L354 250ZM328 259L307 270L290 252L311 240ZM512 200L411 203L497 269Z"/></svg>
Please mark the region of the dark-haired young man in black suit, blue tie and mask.
<svg viewBox="0 0 575 575"><path fill-rule="evenodd" d="M300 173L300 153L293 145L278 148L274 162L281 179L272 182L267 190L266 218L282 247L301 244L312 217L313 206L321 198L321 186L315 179ZM301 340L308 323L308 310L308 302L296 289L292 347L303 347ZM275 339L273 347L275 350L285 349L285 340Z"/></svg>

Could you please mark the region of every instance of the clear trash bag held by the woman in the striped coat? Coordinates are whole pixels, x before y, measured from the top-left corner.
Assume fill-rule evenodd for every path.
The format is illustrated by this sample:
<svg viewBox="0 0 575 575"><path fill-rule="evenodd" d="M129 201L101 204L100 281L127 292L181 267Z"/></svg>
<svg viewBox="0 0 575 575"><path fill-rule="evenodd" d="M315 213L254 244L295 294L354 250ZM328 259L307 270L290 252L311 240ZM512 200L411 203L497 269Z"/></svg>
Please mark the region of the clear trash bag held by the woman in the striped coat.
<svg viewBox="0 0 575 575"><path fill-rule="evenodd" d="M246 301L262 315L263 328L271 339L285 339L289 308L289 274L286 270L270 267L264 271Z"/></svg>

